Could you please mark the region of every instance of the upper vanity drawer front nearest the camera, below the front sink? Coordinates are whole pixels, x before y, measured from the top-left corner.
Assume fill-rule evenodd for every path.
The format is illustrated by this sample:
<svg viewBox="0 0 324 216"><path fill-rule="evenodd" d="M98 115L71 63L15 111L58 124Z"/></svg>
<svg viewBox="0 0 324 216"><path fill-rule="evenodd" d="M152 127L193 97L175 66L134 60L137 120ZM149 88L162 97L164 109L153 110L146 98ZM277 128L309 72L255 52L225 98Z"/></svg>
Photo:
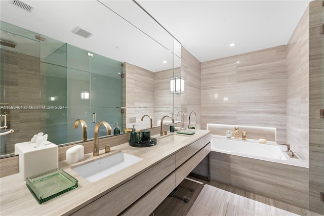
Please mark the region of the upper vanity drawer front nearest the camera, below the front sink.
<svg viewBox="0 0 324 216"><path fill-rule="evenodd" d="M171 174L174 164L172 155L71 215L117 215Z"/></svg>

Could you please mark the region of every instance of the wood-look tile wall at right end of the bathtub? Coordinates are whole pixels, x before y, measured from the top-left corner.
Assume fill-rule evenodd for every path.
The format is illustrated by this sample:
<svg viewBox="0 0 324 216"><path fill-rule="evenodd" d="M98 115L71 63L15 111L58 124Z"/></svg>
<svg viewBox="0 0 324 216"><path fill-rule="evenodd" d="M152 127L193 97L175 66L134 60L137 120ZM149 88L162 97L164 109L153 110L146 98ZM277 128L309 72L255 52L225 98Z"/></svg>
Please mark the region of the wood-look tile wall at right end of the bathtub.
<svg viewBox="0 0 324 216"><path fill-rule="evenodd" d="M287 144L308 165L309 8L287 44Z"/></svg>

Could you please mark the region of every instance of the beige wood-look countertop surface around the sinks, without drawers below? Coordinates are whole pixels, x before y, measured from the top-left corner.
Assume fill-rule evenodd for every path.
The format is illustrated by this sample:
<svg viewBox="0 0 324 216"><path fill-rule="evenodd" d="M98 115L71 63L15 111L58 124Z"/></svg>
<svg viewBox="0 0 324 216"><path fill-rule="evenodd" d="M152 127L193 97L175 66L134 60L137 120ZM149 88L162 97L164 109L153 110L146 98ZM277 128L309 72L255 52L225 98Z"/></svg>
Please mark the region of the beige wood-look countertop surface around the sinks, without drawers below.
<svg viewBox="0 0 324 216"><path fill-rule="evenodd" d="M19 173L3 177L0 179L0 214L2 216L70 214L107 194L130 179L138 176L143 171L149 169L158 162L168 158L169 156L175 154L179 150L190 145L201 137L208 135L209 133L209 131L196 129L194 135L178 134L179 136L188 137L188 139L182 142L163 141L163 137L170 136L174 133L169 133L168 135L164 136L155 135L152 137L157 139L157 144L151 147L136 148L130 146L128 143L124 143L111 147L111 151L109 153L104 153L104 150L101 150L100 155L97 157L93 157L92 153L86 154L84 159L74 164L67 164L65 160L59 161L59 167L78 180L78 187L42 204L38 204L38 202L32 196L25 185L25 181L21 179ZM143 159L94 183L82 178L74 170L72 170L72 167L79 164L83 164L94 159L99 159L120 151L141 157Z"/></svg>

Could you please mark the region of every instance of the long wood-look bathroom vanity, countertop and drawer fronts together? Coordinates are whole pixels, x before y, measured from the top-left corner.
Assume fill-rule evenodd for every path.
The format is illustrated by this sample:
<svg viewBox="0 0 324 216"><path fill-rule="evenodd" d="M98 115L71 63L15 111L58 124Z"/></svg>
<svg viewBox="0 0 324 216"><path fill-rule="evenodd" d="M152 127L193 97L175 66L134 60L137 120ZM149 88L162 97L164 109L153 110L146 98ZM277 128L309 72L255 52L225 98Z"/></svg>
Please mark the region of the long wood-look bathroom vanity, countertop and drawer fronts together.
<svg viewBox="0 0 324 216"><path fill-rule="evenodd" d="M78 188L38 204L19 174L1 178L1 215L149 215L211 150L211 133L152 136L155 146L136 148L128 143L113 146L99 156L59 167L78 180ZM89 182L72 168L125 152L142 158L101 180Z"/></svg>

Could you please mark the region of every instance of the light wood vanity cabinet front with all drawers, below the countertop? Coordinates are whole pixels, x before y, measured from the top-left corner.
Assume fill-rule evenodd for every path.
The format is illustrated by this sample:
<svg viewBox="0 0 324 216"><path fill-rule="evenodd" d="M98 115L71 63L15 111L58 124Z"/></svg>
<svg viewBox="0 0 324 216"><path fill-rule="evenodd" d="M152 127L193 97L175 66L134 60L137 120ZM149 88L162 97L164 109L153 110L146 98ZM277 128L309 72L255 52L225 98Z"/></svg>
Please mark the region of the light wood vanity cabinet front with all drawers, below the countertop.
<svg viewBox="0 0 324 216"><path fill-rule="evenodd" d="M210 136L200 138L71 215L149 215L210 152Z"/></svg>

